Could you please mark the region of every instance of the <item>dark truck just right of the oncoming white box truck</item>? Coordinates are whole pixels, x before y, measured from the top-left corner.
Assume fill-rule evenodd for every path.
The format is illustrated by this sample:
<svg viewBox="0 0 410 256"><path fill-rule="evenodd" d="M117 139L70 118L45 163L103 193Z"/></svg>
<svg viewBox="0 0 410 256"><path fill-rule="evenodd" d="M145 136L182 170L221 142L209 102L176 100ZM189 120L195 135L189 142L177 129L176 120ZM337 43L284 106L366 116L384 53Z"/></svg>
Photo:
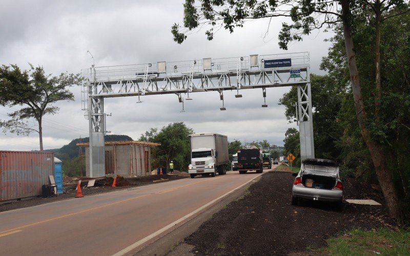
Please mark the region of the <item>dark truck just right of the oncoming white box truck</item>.
<svg viewBox="0 0 410 256"><path fill-rule="evenodd" d="M262 153L258 148L238 150L238 170L239 174L252 170L256 170L256 173L263 172Z"/></svg>

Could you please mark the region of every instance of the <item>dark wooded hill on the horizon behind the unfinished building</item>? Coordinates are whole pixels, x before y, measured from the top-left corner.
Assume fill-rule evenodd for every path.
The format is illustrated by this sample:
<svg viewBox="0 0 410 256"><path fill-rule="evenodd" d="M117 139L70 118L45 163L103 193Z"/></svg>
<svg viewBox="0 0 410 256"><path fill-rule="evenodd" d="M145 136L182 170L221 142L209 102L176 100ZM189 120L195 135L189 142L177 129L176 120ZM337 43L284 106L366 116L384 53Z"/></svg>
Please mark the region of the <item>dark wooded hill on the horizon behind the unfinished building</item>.
<svg viewBox="0 0 410 256"><path fill-rule="evenodd" d="M121 141L121 140L132 140L130 136L127 135L106 135L104 136L105 141ZM68 145L64 145L61 148L54 148L52 150L45 150L53 152L54 156L60 160L68 160L74 157L78 157L78 146L77 143L87 143L90 142L90 138L79 138L73 139ZM83 155L85 154L85 148L83 147Z"/></svg>

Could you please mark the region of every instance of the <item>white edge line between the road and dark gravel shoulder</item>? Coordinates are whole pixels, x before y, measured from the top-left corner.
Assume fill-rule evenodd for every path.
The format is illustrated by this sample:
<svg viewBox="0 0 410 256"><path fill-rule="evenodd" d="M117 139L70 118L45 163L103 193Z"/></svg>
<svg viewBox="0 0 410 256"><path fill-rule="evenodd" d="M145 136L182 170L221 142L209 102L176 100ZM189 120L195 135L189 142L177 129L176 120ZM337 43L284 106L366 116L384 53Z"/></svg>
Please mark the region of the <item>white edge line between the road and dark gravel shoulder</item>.
<svg viewBox="0 0 410 256"><path fill-rule="evenodd" d="M228 193L223 194L222 196L220 196L220 197L218 197L218 198L212 200L211 202L209 202L209 203L207 203L207 204L205 204L205 205L199 207L198 209L196 209L196 210L190 212L190 213L187 214L186 216L183 216L182 218L180 218L180 219L178 219L178 220L172 222L171 224L169 224L169 225L167 225L167 226L165 226L165 227L163 227L163 228L161 228L161 229L155 231L154 233L150 234L148 237L145 237L145 238L139 240L138 242L136 242L136 243L134 243L134 244L128 246L127 248L118 251L117 253L113 254L113 256L122 256L122 255L125 255L127 252L130 252L131 250L137 248L138 246L140 246L140 245L144 244L145 242L151 240L152 238L158 236L158 234L160 234L160 233L162 233L162 232L164 232L164 231L170 229L171 227L173 227L173 226L175 226L175 225L181 223L182 221L184 221L184 220L188 219L189 217L193 216L194 214L197 214L199 211L203 210L204 208L207 208L208 206L210 206L211 204L215 203L215 202L218 201L219 199L221 199L221 198L223 198L223 197L225 197L225 196L231 194L233 191L235 191L235 190L237 190L237 189L243 187L244 185L246 185L246 184L248 184L249 182L255 180L257 177L259 177L259 176L261 176L261 175L263 175L263 173L262 173L262 174L259 174L258 176L256 176L256 177L253 178L252 180L249 180L249 181L243 183L242 185L240 185L240 186L238 186L238 187L232 189L232 190L229 191Z"/></svg>

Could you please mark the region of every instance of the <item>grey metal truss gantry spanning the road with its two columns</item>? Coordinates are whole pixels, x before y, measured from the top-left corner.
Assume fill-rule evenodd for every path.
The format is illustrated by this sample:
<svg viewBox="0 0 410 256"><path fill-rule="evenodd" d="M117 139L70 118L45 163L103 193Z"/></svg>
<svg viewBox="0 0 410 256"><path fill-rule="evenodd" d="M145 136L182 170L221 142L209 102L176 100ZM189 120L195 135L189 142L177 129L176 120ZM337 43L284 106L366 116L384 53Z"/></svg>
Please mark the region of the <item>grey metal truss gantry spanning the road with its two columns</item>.
<svg viewBox="0 0 410 256"><path fill-rule="evenodd" d="M276 60L289 63L272 65ZM148 95L176 94L181 99L181 94L186 94L186 99L191 99L191 93L217 91L222 95L226 90L236 90L236 96L241 97L239 90L257 88L265 97L266 88L297 86L298 121L300 129L303 127L301 143L302 136L309 133L306 135L309 138L303 141L309 145L301 145L301 148L310 148L306 154L301 152L301 156L314 157L309 68L309 53L301 52L84 69L81 72L88 82L83 87L81 102L90 124L90 176L105 174L106 97L138 96L141 102L139 97ZM183 99L180 102L183 103Z"/></svg>

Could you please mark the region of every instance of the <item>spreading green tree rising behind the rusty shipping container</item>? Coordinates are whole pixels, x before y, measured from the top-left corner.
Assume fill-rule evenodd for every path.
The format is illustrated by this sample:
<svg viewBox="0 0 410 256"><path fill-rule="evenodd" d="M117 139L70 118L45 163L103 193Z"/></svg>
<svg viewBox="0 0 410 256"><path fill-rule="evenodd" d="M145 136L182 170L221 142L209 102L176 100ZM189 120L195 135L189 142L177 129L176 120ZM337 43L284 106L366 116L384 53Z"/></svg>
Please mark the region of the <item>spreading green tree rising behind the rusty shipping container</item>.
<svg viewBox="0 0 410 256"><path fill-rule="evenodd" d="M69 87L80 84L79 74L62 73L59 76L46 75L43 67L21 71L17 65L0 67L0 105L10 107L21 105L23 108L9 113L9 120L0 120L3 131L17 135L36 132L39 136L40 151L43 151L43 116L56 114L59 110L52 104L59 100L74 100ZM37 125L28 120L34 118Z"/></svg>

